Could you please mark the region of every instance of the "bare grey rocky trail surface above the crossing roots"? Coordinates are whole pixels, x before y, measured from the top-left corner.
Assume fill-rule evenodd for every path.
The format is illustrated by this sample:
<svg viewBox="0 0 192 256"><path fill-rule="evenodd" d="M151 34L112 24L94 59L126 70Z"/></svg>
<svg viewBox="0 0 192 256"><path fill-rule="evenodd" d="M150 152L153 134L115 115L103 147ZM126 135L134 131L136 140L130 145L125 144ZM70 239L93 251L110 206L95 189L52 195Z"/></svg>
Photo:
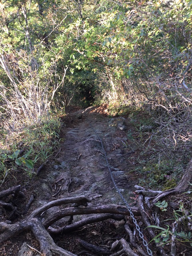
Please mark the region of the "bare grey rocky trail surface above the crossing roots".
<svg viewBox="0 0 192 256"><path fill-rule="evenodd" d="M94 204L123 204L116 193L102 146L90 127L90 122L103 140L114 179L126 200L130 202L136 177L128 173L129 158L136 147L132 145L132 148L126 148L124 118L108 118L98 112L97 108L91 107L68 113L66 125L70 127L65 129L65 141L61 145L60 153L40 174L42 188L37 200L38 206L56 198L78 195L101 195L94 200Z"/></svg>

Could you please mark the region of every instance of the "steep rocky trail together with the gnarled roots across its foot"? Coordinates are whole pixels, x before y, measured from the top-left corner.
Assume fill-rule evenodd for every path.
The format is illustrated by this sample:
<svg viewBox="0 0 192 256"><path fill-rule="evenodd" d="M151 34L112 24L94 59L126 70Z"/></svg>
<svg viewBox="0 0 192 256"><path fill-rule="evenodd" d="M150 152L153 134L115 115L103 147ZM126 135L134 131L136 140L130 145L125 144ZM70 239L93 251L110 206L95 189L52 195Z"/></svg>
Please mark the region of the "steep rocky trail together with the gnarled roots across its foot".
<svg viewBox="0 0 192 256"><path fill-rule="evenodd" d="M54 158L22 186L0 192L0 200L8 197L0 201L5 209L1 211L0 256L152 255L140 232L147 242L156 236L151 228L145 228L154 223L150 222L156 218L152 206L165 192L136 185L142 176L132 172L132 165L140 145L128 136L128 119L109 118L103 106L68 108L66 114L63 142ZM119 192L137 218L137 227L116 191L108 164ZM192 162L186 171L188 180L191 169ZM167 193L181 192L186 184L186 179L182 180ZM158 242L151 246L153 255L166 255Z"/></svg>

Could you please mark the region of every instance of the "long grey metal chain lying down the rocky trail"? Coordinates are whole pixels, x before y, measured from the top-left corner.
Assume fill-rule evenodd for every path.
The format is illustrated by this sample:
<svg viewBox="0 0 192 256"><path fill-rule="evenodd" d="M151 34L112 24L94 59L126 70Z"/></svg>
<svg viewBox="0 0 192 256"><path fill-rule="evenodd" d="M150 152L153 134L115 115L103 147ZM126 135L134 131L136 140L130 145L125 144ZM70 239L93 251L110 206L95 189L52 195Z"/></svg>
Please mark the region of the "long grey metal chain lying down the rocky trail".
<svg viewBox="0 0 192 256"><path fill-rule="evenodd" d="M136 219L135 219L135 217L134 217L134 215L133 215L133 212L132 212L132 210L131 210L131 208L130 208L128 202L126 201L126 199L124 198L124 196L121 194L121 192L120 192L120 190L119 190L119 188L118 188L118 186L117 186L117 184L116 184L116 182L115 182L115 180L114 180L114 177L113 177L113 174L112 174L112 172L111 172L111 169L110 169L110 166L109 166L109 162L108 162L108 159L107 159L106 151L104 150L104 146L103 146L102 139L100 138L100 136L98 135L98 133L96 132L96 130L92 127L91 122L90 122L90 127L92 128L92 130L94 130L96 136L97 136L98 139L100 140L100 143L101 143L101 146L102 146L102 150L103 150L103 152L104 152L105 160L106 160L106 163L107 163L107 167L108 167L108 170L109 170L109 173L110 173L112 182L113 182L113 184L114 184L114 186L115 186L115 188L116 188L116 191L118 192L118 194L119 194L120 197L122 198L124 204L127 206L128 211L130 212L130 216L131 216L131 218L132 218L132 220L133 220L133 222L134 222L134 224L135 224L135 226L136 226L136 230L139 232L139 236L140 236L140 238L142 239L143 245L144 245L144 246L146 247L146 249L147 249L148 255L153 256L152 251L150 250L150 248L148 247L148 244L147 244L146 240L144 239L144 236L143 236L143 234L142 234L142 232L141 232L141 230L140 230L139 225L137 224L137 221L136 221Z"/></svg>

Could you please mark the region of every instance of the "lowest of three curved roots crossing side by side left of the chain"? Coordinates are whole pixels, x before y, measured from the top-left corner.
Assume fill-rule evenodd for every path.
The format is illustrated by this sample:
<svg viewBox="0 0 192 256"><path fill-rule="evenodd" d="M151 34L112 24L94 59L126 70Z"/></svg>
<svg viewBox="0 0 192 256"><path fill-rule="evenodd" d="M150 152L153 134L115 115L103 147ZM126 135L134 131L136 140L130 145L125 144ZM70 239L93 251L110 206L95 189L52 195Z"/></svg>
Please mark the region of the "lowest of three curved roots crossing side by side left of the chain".
<svg viewBox="0 0 192 256"><path fill-rule="evenodd" d="M78 228L82 228L83 226L86 226L91 223L100 222L107 219L122 220L123 218L124 218L124 215L119 215L119 214L95 214L88 218L79 220L73 224L66 225L62 228L49 227L47 230L49 233L52 233L52 234L66 234L69 232L76 231L78 230Z"/></svg>

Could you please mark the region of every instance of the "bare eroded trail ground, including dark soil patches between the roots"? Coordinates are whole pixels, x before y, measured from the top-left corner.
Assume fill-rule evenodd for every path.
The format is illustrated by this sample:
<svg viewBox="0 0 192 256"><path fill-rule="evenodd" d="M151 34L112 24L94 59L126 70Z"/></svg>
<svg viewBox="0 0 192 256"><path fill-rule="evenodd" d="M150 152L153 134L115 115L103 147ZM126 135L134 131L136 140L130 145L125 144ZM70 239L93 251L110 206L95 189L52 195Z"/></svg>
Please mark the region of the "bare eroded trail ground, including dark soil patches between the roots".
<svg viewBox="0 0 192 256"><path fill-rule="evenodd" d="M132 158L137 155L138 146L127 138L126 118L109 118L105 108L90 107L86 110L73 108L68 110L64 123L62 129L64 142L60 144L55 157L46 164L38 176L23 184L27 197L30 193L35 195L29 212L52 200L78 195L96 196L91 202L92 205L123 204L110 178L100 141L91 126L103 141L118 188L126 200L134 204L134 200L130 197L133 198L132 192L138 176L129 173L129 170ZM52 210L59 209L59 206L51 208L45 213L44 218L50 215ZM76 216L74 220L80 218ZM63 219L58 221L56 225L62 226L63 221ZM77 245L76 238L81 237L87 242L110 247L117 238L126 237L122 227L121 222L114 223L107 220L88 225L79 232L56 237L55 240L66 250L75 254L82 252L81 255L86 255ZM38 249L33 236L26 233L15 238L15 241L4 244L0 255L24 255L27 253L25 249L20 250L24 241ZM31 255L38 255L37 252L33 253Z"/></svg>

